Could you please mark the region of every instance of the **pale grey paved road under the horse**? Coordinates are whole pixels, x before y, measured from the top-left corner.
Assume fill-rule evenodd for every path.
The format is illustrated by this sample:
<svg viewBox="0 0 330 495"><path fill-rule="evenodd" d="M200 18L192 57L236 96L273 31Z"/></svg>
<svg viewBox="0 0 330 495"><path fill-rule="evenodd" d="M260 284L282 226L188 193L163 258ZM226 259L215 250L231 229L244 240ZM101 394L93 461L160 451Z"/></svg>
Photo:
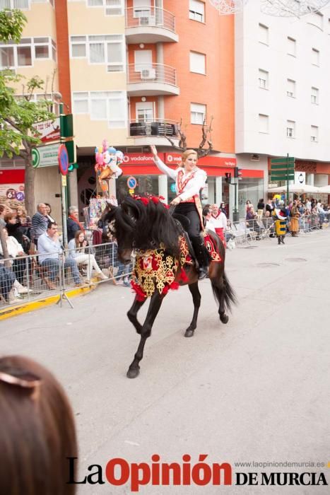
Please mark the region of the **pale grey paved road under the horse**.
<svg viewBox="0 0 330 495"><path fill-rule="evenodd" d="M259 241L228 252L240 305L220 324L208 281L199 327L187 289L165 298L146 345L141 375L126 378L138 336L126 319L131 293L103 284L75 299L0 323L1 353L45 363L71 397L80 477L114 457L191 465L208 461L330 461L330 229ZM142 311L141 311L142 313ZM145 313L145 312L144 312ZM144 314L143 313L143 314ZM273 471L289 471L273 468ZM313 469L307 469L312 471ZM271 471L271 469L270 469ZM302 472L302 469L293 469ZM314 471L317 471L314 469ZM330 483L330 469L324 468ZM142 487L141 494L325 494L329 487ZM79 494L129 494L129 485L80 485Z"/></svg>

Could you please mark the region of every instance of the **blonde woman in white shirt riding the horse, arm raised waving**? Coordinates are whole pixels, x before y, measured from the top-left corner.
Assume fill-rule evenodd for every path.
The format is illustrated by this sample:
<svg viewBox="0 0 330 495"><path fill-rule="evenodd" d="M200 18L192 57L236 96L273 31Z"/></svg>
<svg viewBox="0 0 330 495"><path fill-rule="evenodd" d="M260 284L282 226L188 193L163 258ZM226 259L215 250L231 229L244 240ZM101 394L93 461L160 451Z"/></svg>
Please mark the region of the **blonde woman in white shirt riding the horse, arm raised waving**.
<svg viewBox="0 0 330 495"><path fill-rule="evenodd" d="M171 204L175 206L175 214L186 216L189 219L187 233L199 262L199 280L202 280L208 274L209 263L208 251L201 237L204 227L199 199L199 191L205 187L206 172L197 167L198 156L192 149L187 149L182 153L182 165L176 170L167 167L160 160L154 145L151 146L151 153L159 170L175 180L177 197L172 200Z"/></svg>

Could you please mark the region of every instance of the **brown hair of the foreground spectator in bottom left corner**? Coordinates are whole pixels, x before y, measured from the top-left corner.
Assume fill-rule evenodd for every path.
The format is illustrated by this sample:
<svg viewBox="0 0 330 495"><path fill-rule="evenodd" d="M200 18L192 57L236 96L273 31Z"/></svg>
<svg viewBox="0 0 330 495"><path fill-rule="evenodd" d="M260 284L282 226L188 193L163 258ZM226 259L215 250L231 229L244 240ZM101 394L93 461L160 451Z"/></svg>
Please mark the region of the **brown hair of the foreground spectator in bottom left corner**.
<svg viewBox="0 0 330 495"><path fill-rule="evenodd" d="M77 457L66 394L32 359L0 359L0 491L6 495L73 495L67 457Z"/></svg>

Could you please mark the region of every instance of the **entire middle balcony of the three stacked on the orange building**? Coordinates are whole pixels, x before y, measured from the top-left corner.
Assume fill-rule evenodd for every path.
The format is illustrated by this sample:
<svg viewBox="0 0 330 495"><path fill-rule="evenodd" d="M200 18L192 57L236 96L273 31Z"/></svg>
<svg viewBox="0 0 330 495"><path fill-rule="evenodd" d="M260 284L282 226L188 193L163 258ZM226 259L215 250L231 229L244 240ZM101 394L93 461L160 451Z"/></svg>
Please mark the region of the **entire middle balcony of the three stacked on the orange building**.
<svg viewBox="0 0 330 495"><path fill-rule="evenodd" d="M129 64L127 93L130 96L179 95L177 71L163 64Z"/></svg>

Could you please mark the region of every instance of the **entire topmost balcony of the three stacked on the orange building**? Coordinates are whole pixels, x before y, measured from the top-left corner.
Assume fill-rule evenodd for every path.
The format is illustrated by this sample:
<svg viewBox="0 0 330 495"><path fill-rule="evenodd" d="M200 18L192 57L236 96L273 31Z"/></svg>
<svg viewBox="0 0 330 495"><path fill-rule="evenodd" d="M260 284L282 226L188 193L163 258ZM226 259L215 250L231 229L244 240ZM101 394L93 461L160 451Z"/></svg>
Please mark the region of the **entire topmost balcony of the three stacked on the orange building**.
<svg viewBox="0 0 330 495"><path fill-rule="evenodd" d="M175 16L163 8L126 8L125 35L128 44L177 42Z"/></svg>

